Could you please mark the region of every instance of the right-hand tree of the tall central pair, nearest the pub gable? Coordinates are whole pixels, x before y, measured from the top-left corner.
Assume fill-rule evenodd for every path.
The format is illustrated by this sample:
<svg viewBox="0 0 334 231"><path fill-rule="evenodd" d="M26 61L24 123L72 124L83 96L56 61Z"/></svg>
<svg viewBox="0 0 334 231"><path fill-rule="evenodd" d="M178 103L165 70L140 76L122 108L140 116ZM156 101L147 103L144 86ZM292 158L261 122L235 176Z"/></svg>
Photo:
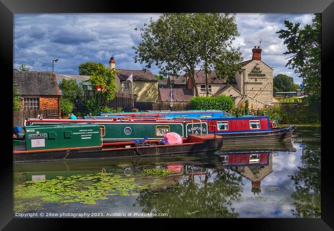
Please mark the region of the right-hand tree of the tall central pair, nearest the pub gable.
<svg viewBox="0 0 334 231"><path fill-rule="evenodd" d="M199 40L199 58L206 74L206 92L209 95L208 74L216 71L216 78L227 78L227 83L235 82L234 75L241 71L238 64L243 59L239 49L232 46L238 36L235 15L219 13L194 14L195 30Z"/></svg>

